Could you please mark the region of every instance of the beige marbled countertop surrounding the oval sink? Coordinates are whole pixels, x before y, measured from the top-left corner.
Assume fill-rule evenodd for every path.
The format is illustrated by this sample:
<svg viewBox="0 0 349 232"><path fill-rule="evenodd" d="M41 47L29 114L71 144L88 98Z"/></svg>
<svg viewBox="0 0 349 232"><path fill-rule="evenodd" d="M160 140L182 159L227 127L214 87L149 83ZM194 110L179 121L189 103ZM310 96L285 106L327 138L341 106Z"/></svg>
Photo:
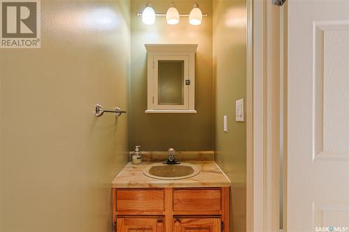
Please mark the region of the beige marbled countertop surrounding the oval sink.
<svg viewBox="0 0 349 232"><path fill-rule="evenodd" d="M197 165L201 171L197 176L182 180L158 180L143 174L143 169L155 162L131 162L112 181L113 188L138 187L229 187L230 180L214 161L185 161Z"/></svg>

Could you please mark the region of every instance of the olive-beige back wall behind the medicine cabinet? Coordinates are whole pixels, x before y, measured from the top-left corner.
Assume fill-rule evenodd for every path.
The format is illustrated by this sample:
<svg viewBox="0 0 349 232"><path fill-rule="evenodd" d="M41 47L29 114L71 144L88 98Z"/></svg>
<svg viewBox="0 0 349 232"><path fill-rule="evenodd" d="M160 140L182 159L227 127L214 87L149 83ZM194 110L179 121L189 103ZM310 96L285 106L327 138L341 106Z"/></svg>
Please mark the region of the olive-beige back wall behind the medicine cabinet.
<svg viewBox="0 0 349 232"><path fill-rule="evenodd" d="M212 1L201 0L200 8L209 17L200 26L181 17L170 26L165 17L156 17L152 26L142 23L136 13L144 0L131 0L131 149L211 150L212 149ZM195 1L175 1L179 13L189 13ZM165 13L170 1L153 0L157 13ZM197 43L195 60L195 109L198 114L144 114L147 109L147 52L145 43Z"/></svg>

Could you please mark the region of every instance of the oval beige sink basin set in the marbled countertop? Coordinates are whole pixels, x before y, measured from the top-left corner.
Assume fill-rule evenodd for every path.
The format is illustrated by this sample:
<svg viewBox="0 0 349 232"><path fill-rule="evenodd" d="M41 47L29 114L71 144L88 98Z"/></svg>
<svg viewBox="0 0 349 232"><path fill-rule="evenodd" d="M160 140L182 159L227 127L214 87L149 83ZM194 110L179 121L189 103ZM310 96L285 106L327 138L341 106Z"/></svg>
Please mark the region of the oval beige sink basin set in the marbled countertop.
<svg viewBox="0 0 349 232"><path fill-rule="evenodd" d="M145 176L161 180L180 180L191 178L200 173L199 167L194 164L151 164L143 170Z"/></svg>

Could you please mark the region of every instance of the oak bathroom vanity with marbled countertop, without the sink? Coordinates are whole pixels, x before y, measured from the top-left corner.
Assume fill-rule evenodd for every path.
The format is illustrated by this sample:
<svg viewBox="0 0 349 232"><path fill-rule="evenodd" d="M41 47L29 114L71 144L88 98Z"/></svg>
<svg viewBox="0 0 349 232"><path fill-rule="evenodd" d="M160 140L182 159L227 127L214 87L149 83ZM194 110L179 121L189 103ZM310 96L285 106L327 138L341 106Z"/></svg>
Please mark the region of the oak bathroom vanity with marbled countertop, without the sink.
<svg viewBox="0 0 349 232"><path fill-rule="evenodd" d="M154 162L127 164L112 181L113 231L228 232L230 180L210 155L204 156L185 160L200 172L180 180L144 175L149 165L161 160L154 154L149 155Z"/></svg>

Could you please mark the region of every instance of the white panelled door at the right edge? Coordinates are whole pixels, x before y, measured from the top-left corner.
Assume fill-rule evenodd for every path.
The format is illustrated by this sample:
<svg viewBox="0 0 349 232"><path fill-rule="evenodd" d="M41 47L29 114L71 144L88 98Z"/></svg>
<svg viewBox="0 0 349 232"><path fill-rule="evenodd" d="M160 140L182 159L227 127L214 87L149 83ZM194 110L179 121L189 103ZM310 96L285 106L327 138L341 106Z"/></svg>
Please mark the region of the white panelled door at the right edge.
<svg viewBox="0 0 349 232"><path fill-rule="evenodd" d="M288 231L349 231L349 1L288 1Z"/></svg>

